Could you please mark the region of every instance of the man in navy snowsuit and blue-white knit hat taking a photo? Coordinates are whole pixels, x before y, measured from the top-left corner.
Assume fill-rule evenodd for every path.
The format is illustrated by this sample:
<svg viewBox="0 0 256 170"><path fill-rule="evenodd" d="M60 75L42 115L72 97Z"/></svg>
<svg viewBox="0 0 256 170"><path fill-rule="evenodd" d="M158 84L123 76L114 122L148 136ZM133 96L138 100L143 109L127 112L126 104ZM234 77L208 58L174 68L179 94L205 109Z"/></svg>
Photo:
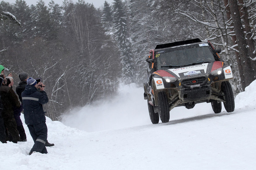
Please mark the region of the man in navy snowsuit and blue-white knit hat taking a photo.
<svg viewBox="0 0 256 170"><path fill-rule="evenodd" d="M36 80L30 77L27 79L25 90L21 93L25 123L28 125L29 132L34 141L29 155L34 152L47 153L45 147L47 126L43 105L49 99L44 90L45 85L43 83L37 84Z"/></svg>

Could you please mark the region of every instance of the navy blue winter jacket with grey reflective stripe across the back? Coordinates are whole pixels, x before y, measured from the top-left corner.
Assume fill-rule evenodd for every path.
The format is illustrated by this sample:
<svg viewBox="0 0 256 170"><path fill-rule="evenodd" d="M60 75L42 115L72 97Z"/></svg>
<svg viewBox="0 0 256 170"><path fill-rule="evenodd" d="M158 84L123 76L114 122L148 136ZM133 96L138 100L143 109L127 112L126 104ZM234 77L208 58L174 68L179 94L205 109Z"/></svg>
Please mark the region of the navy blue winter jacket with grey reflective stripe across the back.
<svg viewBox="0 0 256 170"><path fill-rule="evenodd" d="M45 91L38 91L34 85L26 85L21 96L25 123L32 125L45 122L43 104L49 101Z"/></svg>

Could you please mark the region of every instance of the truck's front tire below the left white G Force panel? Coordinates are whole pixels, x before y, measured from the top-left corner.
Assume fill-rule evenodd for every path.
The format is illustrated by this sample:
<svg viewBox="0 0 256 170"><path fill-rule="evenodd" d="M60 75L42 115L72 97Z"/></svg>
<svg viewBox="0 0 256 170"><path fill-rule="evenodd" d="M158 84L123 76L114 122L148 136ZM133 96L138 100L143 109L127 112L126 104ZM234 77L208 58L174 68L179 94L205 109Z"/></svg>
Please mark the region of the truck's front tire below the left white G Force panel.
<svg viewBox="0 0 256 170"><path fill-rule="evenodd" d="M165 92L161 91L158 93L158 109L160 119L163 123L169 122L170 119L170 111L169 111L169 104L168 99L166 97Z"/></svg>

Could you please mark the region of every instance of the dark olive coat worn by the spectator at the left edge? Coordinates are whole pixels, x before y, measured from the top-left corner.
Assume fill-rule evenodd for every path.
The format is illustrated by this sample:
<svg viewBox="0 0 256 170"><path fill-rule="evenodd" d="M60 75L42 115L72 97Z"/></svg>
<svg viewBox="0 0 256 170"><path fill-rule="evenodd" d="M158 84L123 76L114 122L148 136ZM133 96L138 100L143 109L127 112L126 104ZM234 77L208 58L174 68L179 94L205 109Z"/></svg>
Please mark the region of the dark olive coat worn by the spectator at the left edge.
<svg viewBox="0 0 256 170"><path fill-rule="evenodd" d="M0 93L1 101L4 106L2 117L4 120L13 119L13 108L19 108L20 106L18 96L15 94L13 89L6 85L1 85Z"/></svg>

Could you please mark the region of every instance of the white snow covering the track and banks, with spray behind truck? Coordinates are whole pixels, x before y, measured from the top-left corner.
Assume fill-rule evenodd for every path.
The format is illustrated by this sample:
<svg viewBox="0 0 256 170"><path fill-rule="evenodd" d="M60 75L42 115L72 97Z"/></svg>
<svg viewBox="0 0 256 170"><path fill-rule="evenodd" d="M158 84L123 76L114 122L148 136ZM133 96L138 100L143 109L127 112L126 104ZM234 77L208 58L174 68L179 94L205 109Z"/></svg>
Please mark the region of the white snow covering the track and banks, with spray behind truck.
<svg viewBox="0 0 256 170"><path fill-rule="evenodd" d="M33 142L0 143L9 169L254 169L256 80L236 96L235 111L214 114L211 104L174 108L170 122L151 124L143 88L120 88L109 101L71 109L63 123L46 119L48 154L28 155ZM21 116L24 122L23 116Z"/></svg>

